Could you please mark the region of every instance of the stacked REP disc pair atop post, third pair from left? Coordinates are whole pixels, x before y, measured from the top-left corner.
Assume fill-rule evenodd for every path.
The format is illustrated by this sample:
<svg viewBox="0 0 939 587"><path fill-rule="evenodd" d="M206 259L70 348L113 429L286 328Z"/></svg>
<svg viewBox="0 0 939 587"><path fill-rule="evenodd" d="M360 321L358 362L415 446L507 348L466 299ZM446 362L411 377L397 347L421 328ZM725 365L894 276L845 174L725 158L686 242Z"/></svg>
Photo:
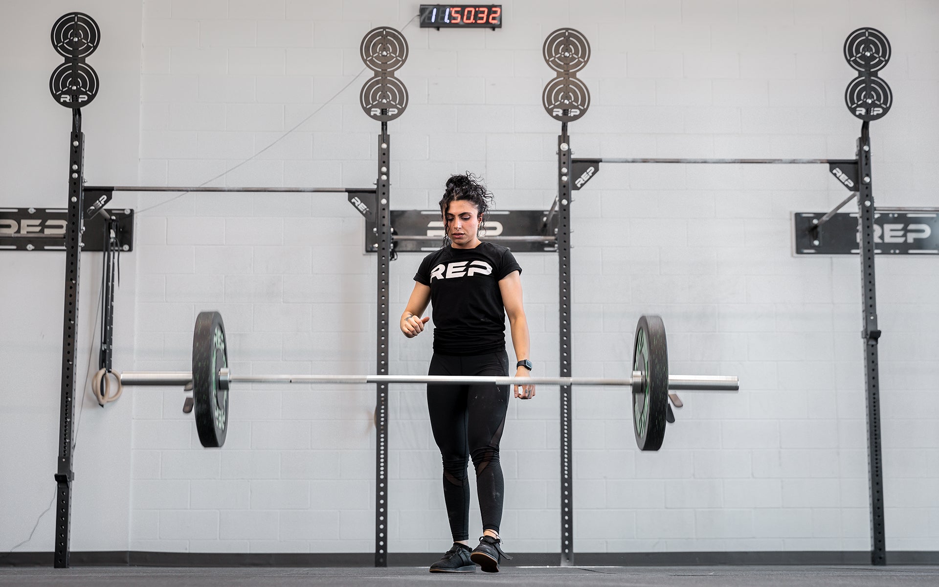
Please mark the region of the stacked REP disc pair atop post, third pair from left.
<svg viewBox="0 0 939 587"><path fill-rule="evenodd" d="M547 67L558 72L541 95L547 114L562 122L571 122L587 114L590 90L577 79L577 71L590 60L587 38L573 28L559 28L545 39L542 55Z"/></svg>

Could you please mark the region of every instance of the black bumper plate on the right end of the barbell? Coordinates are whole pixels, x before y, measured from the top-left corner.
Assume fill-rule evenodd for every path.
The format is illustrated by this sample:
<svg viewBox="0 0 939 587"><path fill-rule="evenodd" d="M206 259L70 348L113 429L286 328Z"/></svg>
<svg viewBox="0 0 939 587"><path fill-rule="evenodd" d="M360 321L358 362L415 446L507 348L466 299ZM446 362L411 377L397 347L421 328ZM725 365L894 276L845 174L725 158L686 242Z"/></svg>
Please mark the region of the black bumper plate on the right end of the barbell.
<svg viewBox="0 0 939 587"><path fill-rule="evenodd" d="M665 439L669 406L669 349L661 317L643 316L636 326L633 371L642 381L633 385L633 431L642 451L657 451Z"/></svg>

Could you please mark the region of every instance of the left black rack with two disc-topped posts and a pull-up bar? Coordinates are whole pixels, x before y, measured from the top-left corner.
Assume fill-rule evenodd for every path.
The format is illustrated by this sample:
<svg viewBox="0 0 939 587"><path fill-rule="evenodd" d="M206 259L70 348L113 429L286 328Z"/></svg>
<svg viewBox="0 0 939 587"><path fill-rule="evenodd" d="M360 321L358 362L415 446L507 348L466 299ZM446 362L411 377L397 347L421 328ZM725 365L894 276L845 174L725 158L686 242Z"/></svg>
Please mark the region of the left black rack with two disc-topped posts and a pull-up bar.
<svg viewBox="0 0 939 587"><path fill-rule="evenodd" d="M65 231L65 296L63 302L62 371L59 411L59 443L55 498L54 566L69 567L71 518L71 482L73 421L75 413L75 359L78 329L79 278L81 269L82 234L85 220L97 214L107 217L104 207L115 192L253 192L253 193L346 193L347 199L366 221L366 232L372 232L370 252L377 253L377 343L378 375L388 375L389 265L392 259L391 208L391 136L388 122L401 116L407 108L407 90L394 78L395 70L408 58L408 43L391 27L377 27L364 36L360 53L366 67L376 76L365 82L360 105L367 116L381 122L377 137L377 179L374 188L252 188L170 186L85 186L85 134L82 131L82 107L98 94L97 73L85 57L97 50L100 28L94 19L82 12L69 12L53 26L53 47L65 58L50 81L54 100L71 110L72 129L69 135L69 196ZM389 88L401 91L389 91ZM110 286L110 284L105 285ZM105 304L105 312L113 311L113 298ZM104 322L110 324L110 316ZM110 327L109 327L110 328ZM110 362L108 362L110 363ZM108 365L110 366L110 365ZM377 383L376 390L376 566L387 566L387 467L388 461L388 384Z"/></svg>

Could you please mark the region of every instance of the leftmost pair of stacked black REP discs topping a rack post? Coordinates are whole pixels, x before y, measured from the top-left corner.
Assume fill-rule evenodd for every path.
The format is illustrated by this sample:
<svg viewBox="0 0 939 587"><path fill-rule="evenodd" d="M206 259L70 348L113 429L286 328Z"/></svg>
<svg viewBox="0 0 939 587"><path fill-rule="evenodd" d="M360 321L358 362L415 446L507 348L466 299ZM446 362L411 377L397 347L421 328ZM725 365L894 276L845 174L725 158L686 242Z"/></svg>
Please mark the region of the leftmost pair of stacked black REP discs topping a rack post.
<svg viewBox="0 0 939 587"><path fill-rule="evenodd" d="M65 63L55 68L49 79L53 99L67 108L81 108L98 95L98 73L85 63L85 57L98 49L100 29L83 12L69 12L55 21L52 42Z"/></svg>

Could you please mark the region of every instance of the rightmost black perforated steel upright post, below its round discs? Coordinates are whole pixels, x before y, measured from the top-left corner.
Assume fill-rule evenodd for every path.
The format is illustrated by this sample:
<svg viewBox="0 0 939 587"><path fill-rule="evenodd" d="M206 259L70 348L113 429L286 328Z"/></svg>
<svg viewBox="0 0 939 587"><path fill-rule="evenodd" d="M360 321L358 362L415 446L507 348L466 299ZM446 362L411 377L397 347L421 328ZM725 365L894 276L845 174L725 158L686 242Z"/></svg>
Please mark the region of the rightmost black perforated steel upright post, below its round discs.
<svg viewBox="0 0 939 587"><path fill-rule="evenodd" d="M870 123L861 125L857 139L857 228L861 250L861 291L864 298L861 337L864 339L864 379L868 400L868 474L870 476L870 564L886 564L884 474L881 460L880 374L877 366L877 287L874 274L874 195L870 173Z"/></svg>

